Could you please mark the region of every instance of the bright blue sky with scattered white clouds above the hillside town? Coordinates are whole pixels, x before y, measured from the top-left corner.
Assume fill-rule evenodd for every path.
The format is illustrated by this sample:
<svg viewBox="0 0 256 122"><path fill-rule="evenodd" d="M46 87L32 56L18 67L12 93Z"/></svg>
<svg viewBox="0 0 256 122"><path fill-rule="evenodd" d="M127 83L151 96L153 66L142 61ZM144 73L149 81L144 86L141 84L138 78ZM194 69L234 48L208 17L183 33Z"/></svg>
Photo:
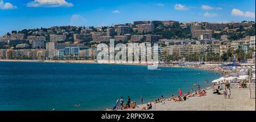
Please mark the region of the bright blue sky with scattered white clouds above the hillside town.
<svg viewBox="0 0 256 122"><path fill-rule="evenodd" d="M0 0L0 36L28 28L134 20L255 21L255 0Z"/></svg>

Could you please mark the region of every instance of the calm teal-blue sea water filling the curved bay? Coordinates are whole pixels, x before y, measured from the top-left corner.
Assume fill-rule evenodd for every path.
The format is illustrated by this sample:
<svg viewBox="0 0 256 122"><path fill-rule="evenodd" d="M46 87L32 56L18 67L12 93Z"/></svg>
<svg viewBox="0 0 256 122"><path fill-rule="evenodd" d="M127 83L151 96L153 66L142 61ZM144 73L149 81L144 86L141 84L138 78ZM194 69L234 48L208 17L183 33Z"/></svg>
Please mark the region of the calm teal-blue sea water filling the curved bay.
<svg viewBox="0 0 256 122"><path fill-rule="evenodd" d="M127 96L139 103L203 88L220 74L192 68L0 62L0 110L105 110ZM205 80L209 84L205 84ZM81 104L80 108L73 107Z"/></svg>

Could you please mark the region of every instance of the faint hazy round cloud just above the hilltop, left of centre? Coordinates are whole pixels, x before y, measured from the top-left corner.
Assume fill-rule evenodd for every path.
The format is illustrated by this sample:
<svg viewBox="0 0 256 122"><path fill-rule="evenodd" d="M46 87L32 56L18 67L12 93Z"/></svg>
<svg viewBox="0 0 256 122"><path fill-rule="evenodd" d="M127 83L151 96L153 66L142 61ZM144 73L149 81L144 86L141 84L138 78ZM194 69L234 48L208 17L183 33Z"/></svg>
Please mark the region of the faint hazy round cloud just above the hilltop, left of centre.
<svg viewBox="0 0 256 122"><path fill-rule="evenodd" d="M86 19L84 19L84 17L82 17L81 15L74 14L71 16L71 19L70 19L71 25L82 26L82 25L85 25L85 23L86 23Z"/></svg>

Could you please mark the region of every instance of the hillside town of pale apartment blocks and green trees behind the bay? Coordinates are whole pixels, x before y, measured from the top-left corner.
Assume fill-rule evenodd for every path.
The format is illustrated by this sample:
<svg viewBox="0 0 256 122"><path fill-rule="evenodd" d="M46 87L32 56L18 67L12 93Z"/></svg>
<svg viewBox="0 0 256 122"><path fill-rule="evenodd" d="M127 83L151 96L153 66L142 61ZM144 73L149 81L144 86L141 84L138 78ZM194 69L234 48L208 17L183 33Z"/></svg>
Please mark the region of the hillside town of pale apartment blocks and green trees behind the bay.
<svg viewBox="0 0 256 122"><path fill-rule="evenodd" d="M95 60L99 43L158 43L162 62L255 63L255 22L134 21L111 27L23 29L0 37L0 59Z"/></svg>

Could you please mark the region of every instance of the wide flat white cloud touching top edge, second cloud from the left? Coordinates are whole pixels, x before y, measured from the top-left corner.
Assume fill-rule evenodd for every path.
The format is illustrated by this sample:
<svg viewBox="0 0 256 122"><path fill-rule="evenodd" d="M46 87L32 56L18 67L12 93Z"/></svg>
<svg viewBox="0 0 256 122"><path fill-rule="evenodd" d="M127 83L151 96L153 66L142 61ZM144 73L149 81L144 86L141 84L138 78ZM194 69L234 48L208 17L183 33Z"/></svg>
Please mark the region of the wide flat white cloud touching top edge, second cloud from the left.
<svg viewBox="0 0 256 122"><path fill-rule="evenodd" d="M73 4L65 0L34 0L27 3L27 7L72 7Z"/></svg>

